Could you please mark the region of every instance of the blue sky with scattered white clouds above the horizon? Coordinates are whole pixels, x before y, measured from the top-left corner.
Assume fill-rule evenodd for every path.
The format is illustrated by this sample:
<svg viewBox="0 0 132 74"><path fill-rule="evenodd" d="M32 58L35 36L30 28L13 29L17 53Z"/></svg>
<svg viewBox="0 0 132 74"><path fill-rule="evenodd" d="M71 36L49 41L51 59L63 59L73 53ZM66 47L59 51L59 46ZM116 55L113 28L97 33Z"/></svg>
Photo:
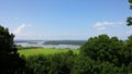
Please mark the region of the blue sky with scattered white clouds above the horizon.
<svg viewBox="0 0 132 74"><path fill-rule="evenodd" d="M15 39L87 40L107 34L127 39L128 0L0 0L0 24Z"/></svg>

